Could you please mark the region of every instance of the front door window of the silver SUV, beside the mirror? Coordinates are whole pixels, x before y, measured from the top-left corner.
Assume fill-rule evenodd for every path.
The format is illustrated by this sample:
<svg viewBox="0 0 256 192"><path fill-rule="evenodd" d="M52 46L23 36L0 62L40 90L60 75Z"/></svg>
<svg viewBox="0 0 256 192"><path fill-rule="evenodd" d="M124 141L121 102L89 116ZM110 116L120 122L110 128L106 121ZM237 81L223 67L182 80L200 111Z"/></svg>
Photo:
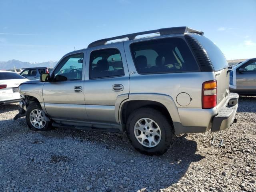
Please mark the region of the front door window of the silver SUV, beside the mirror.
<svg viewBox="0 0 256 192"><path fill-rule="evenodd" d="M55 80L63 80L60 76L66 77L66 80L82 80L83 60L83 53L65 57L54 70Z"/></svg>

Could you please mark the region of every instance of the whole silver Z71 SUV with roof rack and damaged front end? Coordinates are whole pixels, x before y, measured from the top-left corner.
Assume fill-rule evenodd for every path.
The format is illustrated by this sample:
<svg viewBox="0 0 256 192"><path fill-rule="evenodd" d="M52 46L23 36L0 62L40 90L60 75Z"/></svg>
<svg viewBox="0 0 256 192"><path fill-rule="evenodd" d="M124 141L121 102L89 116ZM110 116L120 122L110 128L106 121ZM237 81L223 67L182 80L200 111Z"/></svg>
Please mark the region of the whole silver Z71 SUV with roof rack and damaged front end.
<svg viewBox="0 0 256 192"><path fill-rule="evenodd" d="M136 38L146 34L155 36ZM40 81L21 84L15 119L26 115L36 131L126 131L136 150L161 155L175 135L233 123L238 94L229 93L229 72L220 49L188 27L102 39L63 56Z"/></svg>

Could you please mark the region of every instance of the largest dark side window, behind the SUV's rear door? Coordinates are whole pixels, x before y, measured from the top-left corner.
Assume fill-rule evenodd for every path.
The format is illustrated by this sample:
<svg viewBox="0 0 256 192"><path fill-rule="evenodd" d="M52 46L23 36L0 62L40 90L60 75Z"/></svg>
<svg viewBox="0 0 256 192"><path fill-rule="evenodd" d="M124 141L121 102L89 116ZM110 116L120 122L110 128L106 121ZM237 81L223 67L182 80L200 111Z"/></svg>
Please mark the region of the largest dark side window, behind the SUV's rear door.
<svg viewBox="0 0 256 192"><path fill-rule="evenodd" d="M190 49L181 38L164 38L130 45L139 74L199 71Z"/></svg>

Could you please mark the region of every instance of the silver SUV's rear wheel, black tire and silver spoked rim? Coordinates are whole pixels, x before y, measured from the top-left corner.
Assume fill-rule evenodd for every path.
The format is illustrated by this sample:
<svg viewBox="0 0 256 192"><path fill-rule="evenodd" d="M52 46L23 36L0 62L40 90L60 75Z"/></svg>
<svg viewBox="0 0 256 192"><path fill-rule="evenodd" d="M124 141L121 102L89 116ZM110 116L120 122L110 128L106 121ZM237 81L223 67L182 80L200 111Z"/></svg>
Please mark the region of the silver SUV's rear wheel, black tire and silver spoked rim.
<svg viewBox="0 0 256 192"><path fill-rule="evenodd" d="M135 110L130 114L126 126L132 146L143 154L162 155L174 142L172 123L153 108Z"/></svg>

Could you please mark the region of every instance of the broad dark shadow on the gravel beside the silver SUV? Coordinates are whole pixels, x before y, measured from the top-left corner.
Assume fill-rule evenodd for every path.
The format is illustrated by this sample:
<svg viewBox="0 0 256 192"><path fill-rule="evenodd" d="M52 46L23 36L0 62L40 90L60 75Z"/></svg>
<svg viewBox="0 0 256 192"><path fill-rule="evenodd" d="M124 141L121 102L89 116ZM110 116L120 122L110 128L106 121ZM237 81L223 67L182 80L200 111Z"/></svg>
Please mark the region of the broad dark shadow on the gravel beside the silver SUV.
<svg viewBox="0 0 256 192"><path fill-rule="evenodd" d="M15 168L11 173L0 168L0 175L4 175L4 180L14 177L22 186L36 185L37 178L43 178L43 184L60 178L69 185L63 186L64 183L58 183L57 179L54 182L58 184L52 190L85 188L92 184L94 191L102 187L112 192L158 191L176 186L190 164L204 158L196 154L197 143L187 139L185 134L176 138L166 154L146 156L134 150L126 134L57 128L35 132L28 129L24 118L15 123L13 120L0 121L0 127L2 125L0 143L8 144L0 146L0 154L3 154L0 162ZM59 172L59 166L65 173ZM80 178L81 175L85 178ZM92 177L96 180L91 180ZM72 178L77 178L76 182ZM108 187L105 182L113 185Z"/></svg>

